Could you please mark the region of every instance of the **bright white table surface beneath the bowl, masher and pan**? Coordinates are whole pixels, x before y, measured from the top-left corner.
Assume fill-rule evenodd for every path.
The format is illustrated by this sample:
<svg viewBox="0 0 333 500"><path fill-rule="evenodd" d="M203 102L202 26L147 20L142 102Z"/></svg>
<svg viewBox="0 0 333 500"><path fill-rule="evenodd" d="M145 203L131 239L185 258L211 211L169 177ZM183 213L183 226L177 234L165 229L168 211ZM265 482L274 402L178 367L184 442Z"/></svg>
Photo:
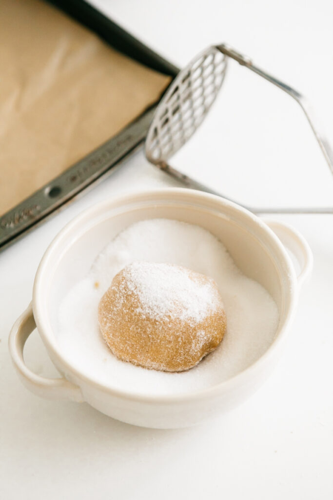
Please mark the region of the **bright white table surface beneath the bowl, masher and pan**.
<svg viewBox="0 0 333 500"><path fill-rule="evenodd" d="M304 91L333 141L332 1L94 3L179 65L210 43L229 42ZM332 204L332 177L297 105L236 63L222 94L200 144L198 136L177 161L197 172L204 165L208 180L243 202ZM0 253L0 498L331 499L332 215L275 216L309 241L313 275L278 367L228 414L189 429L145 429L85 403L40 399L19 382L7 336L31 299L50 240L97 201L165 185L175 182L138 152ZM26 361L37 373L56 374L36 332L27 342Z"/></svg>

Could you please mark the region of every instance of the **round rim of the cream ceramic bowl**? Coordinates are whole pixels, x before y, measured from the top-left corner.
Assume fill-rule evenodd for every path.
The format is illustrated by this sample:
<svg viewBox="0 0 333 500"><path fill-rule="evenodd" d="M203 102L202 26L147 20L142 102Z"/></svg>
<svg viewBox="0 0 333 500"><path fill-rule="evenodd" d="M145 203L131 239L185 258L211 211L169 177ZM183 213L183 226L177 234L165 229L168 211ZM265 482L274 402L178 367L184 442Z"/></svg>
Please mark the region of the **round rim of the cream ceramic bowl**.
<svg viewBox="0 0 333 500"><path fill-rule="evenodd" d="M213 384L209 387L199 390L191 390L187 392L179 392L176 394L140 394L138 392L131 392L128 390L121 390L112 385L108 385L106 383L97 381L93 378L90 378L85 374L84 371L79 368L74 367L70 362L68 362L61 354L60 350L56 348L56 341L52 342L47 333L48 327L51 328L50 323L47 323L48 316L46 315L46 320L41 311L43 310L40 306L40 292L42 291L41 282L43 274L49 272L48 262L52 257L52 254L57 250L57 245L60 244L61 240L66 238L68 233L74 234L73 229L77 230L77 226L82 223L84 220L91 220L93 216L100 212L103 208L110 209L112 205L127 205L129 202L135 201L135 199L139 200L140 198L145 198L147 196L167 196L172 197L172 195L185 195L185 197L196 198L196 200L201 199L202 201L213 201L217 203L220 208L227 207L228 209L232 209L236 214L242 214L242 216L251 219L252 222L255 222L257 226L259 226L269 237L270 241L275 246L275 249L280 254L280 258L282 258L283 263L287 267L288 272L286 273L286 279L289 284L290 291L290 300L289 303L286 304L286 312L285 319L278 326L275 337L268 347L268 349L262 354L254 363L240 371L239 373L233 375L232 377L223 380L219 383ZM175 200L176 204L176 200ZM221 210L223 213L223 210ZM89 230L89 229L88 229ZM298 282L296 277L296 271L288 252L280 241L278 236L274 233L274 231L257 215L250 212L246 208L229 201L226 198L221 196L206 193L203 191L192 190L188 188L181 187L167 187L167 188L155 188L155 189L145 189L145 190L136 190L127 194L123 194L121 196L112 197L112 199L107 199L98 203L94 203L90 207L83 210L81 213L72 218L53 238L51 243L48 245L45 250L40 263L38 265L34 283L33 283L33 291L32 291L32 309L33 315L36 322L36 327L38 329L38 333L46 347L48 354L50 355L52 361L56 359L54 363L55 366L62 372L64 371L67 375L74 375L74 382L80 386L80 383L77 380L82 380L84 383L93 385L98 391L102 391L114 397L118 397L121 399L125 399L128 401L135 402L145 402L145 403L160 403L160 404L170 404L170 403L180 403L187 402L191 400L203 400L206 398L211 398L217 395L220 395L222 392L229 392L235 389L237 386L246 385L246 381L255 377L256 372L260 372L261 368L269 364L271 358L273 357L277 348L281 345L282 341L286 337L287 327L290 324L293 315L295 313L295 308L298 299ZM51 337L52 338L52 337ZM53 338L55 339L55 335L53 333ZM59 368L58 366L61 366ZM65 368L63 370L63 367ZM66 378L67 378L67 375ZM68 377L69 381L72 381L71 377Z"/></svg>

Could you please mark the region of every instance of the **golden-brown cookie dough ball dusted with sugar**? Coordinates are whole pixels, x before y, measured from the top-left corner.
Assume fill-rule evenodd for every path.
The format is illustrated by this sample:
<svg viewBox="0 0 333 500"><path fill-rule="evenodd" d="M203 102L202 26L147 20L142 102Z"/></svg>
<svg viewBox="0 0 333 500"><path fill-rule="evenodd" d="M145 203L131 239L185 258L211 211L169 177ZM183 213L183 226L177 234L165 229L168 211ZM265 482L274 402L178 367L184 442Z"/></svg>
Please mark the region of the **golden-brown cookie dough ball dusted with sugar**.
<svg viewBox="0 0 333 500"><path fill-rule="evenodd" d="M215 281L172 264L133 262L112 280L98 307L113 354L145 368L183 371L215 349L226 315Z"/></svg>

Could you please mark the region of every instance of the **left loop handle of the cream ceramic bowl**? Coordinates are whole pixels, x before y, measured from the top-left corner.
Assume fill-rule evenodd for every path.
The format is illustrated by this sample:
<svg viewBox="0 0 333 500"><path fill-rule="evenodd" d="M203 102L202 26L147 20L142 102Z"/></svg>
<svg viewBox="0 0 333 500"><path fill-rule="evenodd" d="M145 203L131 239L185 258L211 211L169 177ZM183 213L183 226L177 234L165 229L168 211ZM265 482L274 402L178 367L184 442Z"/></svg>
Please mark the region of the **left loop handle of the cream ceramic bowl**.
<svg viewBox="0 0 333 500"><path fill-rule="evenodd" d="M26 339L35 329L32 304L15 321L9 334L8 347L14 366L23 384L34 394L49 399L70 399L81 402L83 396L80 387L66 378L45 378L33 373L23 359L23 348Z"/></svg>

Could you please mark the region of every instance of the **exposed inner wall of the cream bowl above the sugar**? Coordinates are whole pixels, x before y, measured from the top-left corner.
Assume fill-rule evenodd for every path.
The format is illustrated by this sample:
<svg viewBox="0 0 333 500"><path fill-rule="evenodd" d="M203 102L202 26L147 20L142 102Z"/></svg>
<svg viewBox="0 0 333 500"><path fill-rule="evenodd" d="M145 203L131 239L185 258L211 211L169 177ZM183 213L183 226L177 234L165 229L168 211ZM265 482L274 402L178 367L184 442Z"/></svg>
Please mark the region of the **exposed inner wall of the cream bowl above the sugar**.
<svg viewBox="0 0 333 500"><path fill-rule="evenodd" d="M59 304L89 271L96 255L133 222L160 217L198 224L217 236L242 272L262 284L274 298L280 313L279 331L290 294L290 268L281 244L250 213L219 198L184 191L173 191L172 198L165 192L146 193L103 203L61 231L43 257L34 288L34 310L38 311L42 337L45 341L47 336L48 346L58 352L54 332ZM61 356L61 352L58 354Z"/></svg>

